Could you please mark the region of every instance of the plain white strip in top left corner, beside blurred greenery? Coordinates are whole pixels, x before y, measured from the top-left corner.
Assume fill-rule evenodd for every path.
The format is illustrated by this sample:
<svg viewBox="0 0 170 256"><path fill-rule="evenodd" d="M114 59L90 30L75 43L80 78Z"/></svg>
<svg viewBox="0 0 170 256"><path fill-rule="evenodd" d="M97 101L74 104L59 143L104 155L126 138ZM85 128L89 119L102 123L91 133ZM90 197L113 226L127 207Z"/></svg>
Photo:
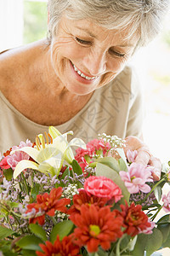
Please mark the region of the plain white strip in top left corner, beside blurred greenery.
<svg viewBox="0 0 170 256"><path fill-rule="evenodd" d="M0 51L23 42L23 0L0 0Z"/></svg>

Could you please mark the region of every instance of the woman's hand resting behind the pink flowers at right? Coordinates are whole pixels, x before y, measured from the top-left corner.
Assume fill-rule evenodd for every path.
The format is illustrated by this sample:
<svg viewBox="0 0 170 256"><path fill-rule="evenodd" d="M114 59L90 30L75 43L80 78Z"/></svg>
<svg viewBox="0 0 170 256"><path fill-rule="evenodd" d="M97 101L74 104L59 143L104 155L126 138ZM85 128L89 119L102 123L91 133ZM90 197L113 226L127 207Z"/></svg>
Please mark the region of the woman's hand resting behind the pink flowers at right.
<svg viewBox="0 0 170 256"><path fill-rule="evenodd" d="M125 138L126 148L124 148L125 154L127 150L137 150L138 155L135 159L135 162L143 166L153 166L154 170L152 176L154 180L159 180L161 177L161 161L150 154L150 149L146 144L143 143L138 137L129 136Z"/></svg>

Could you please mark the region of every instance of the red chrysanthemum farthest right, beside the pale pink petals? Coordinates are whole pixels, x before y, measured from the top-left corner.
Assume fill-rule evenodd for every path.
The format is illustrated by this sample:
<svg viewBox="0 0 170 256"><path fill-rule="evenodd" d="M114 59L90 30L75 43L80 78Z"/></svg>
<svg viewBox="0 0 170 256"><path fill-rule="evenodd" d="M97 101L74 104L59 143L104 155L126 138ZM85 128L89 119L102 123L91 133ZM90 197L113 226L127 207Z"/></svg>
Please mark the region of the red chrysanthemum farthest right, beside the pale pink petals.
<svg viewBox="0 0 170 256"><path fill-rule="evenodd" d="M121 205L121 215L124 218L124 225L129 236L136 236L142 233L143 230L150 228L150 221L148 216L142 211L140 205L135 206L134 202L130 207Z"/></svg>

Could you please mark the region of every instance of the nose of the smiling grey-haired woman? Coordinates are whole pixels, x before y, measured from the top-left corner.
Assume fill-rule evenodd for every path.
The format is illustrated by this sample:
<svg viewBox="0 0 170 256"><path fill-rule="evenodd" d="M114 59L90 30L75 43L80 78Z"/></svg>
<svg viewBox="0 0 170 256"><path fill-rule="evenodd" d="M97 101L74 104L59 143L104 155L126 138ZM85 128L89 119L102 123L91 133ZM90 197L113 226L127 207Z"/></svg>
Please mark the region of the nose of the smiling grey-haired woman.
<svg viewBox="0 0 170 256"><path fill-rule="evenodd" d="M91 53L86 55L83 59L83 62L90 75L99 76L100 74L105 73L105 53Z"/></svg>

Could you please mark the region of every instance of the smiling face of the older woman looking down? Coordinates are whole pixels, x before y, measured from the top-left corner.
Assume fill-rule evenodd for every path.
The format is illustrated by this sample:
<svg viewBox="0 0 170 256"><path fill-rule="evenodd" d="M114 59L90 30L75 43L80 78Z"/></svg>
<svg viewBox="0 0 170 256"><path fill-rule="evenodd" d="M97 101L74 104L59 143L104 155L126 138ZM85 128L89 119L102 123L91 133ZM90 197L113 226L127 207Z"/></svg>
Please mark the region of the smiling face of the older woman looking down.
<svg viewBox="0 0 170 256"><path fill-rule="evenodd" d="M51 42L54 71L65 88L88 95L120 73L133 54L138 38L127 38L128 30L107 30L91 20L59 21Z"/></svg>

